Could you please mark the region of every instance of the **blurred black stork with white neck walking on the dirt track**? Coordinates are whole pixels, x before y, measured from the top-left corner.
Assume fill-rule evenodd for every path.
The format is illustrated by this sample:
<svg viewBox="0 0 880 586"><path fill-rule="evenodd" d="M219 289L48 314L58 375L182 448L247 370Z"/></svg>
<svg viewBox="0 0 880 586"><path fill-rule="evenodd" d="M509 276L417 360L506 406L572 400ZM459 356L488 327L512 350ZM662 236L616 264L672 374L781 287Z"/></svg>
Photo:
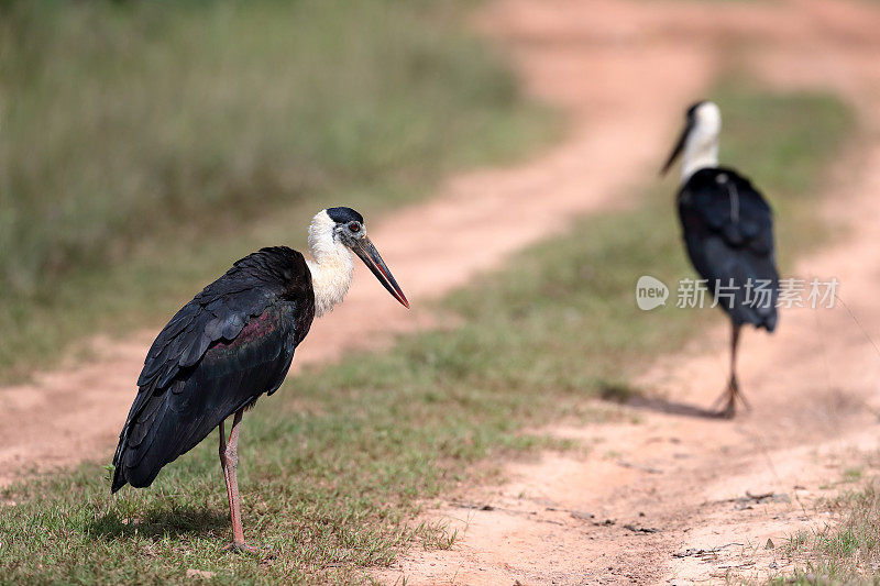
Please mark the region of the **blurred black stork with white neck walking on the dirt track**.
<svg viewBox="0 0 880 586"><path fill-rule="evenodd" d="M718 414L729 418L737 398L748 407L736 377L739 331L745 323L768 332L776 329L779 272L773 213L749 179L718 166L721 130L715 103L689 108L684 131L662 173L683 153L678 204L688 255L733 324L730 379L716 401L724 405Z"/></svg>

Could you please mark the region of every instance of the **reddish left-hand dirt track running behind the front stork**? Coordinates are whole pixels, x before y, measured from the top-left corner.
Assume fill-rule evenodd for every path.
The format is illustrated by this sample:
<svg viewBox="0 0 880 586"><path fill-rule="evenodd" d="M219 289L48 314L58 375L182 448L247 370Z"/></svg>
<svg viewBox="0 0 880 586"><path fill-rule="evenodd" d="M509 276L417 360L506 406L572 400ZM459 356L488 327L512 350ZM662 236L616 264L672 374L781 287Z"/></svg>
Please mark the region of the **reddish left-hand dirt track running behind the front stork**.
<svg viewBox="0 0 880 586"><path fill-rule="evenodd" d="M623 19L638 12L622 5ZM529 46L526 38L517 52L529 90L570 113L563 144L524 165L453 177L435 199L371 226L414 307L564 230L574 215L626 204L618 195L656 163L673 132L669 113L710 77L707 56L684 47L656 51L598 21L585 34L586 44L574 51ZM425 310L402 311L360 267L356 280L345 302L316 322L295 368L332 361L366 334L386 334L380 338L387 342L395 332L431 323ZM0 486L82 460L109 462L154 333L96 341L96 358L86 366L0 388Z"/></svg>

